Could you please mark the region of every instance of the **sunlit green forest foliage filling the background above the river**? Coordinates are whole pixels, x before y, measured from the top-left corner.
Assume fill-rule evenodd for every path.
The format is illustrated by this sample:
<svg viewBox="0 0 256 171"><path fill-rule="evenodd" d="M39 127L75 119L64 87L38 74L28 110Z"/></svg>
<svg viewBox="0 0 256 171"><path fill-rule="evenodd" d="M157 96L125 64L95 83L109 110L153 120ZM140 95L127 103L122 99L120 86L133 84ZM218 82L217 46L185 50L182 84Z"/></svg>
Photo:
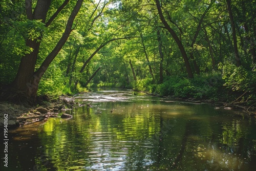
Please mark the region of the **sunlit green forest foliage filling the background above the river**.
<svg viewBox="0 0 256 171"><path fill-rule="evenodd" d="M104 4L107 2L112 6ZM75 3L70 2L46 28L41 20L27 18L24 2L0 2L1 84L14 80L20 59L33 51L26 46L27 39L40 41L35 71L40 67L62 36ZM61 1L52 2L47 19L60 5ZM232 64L233 41L225 1L215 2L212 6L206 0L161 1L161 5L168 25L181 39L190 67L195 70L196 61L200 76L194 79L183 77L186 69L181 51L163 27L154 1L87 1L75 19L69 39L42 77L38 95L86 91L83 86L101 67L88 87L133 88L162 96L212 100L237 98L247 92L244 100L256 99L256 71L255 65L251 65L256 46L253 42L256 37L253 13L256 6L252 1L232 1L242 63L239 68ZM35 6L33 3L33 10ZM120 37L133 38L105 44ZM163 58L160 58L159 48ZM80 72L92 54L93 58ZM219 72L222 72L222 77ZM164 81L156 84L162 81L162 76ZM76 81L78 84L74 92Z"/></svg>

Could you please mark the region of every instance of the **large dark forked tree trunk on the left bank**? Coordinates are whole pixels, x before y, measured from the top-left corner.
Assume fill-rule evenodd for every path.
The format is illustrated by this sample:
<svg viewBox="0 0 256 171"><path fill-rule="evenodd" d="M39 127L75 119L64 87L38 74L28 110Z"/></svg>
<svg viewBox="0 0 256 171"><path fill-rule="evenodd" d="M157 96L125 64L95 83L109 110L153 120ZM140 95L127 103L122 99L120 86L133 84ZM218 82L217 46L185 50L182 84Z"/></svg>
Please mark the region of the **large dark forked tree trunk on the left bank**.
<svg viewBox="0 0 256 171"><path fill-rule="evenodd" d="M8 100L15 100L15 102L20 102L21 100L17 97L16 94L22 94L23 100L25 98L27 99L27 102L31 102L32 104L36 101L36 93L38 89L39 81L46 72L47 68L49 67L52 60L56 57L58 52L61 50L62 46L67 41L71 31L72 31L72 25L75 19L75 16L77 15L83 0L78 0L69 19L68 23L65 29L65 32L63 33L62 37L58 41L56 47L53 49L53 51L46 57L44 62L42 62L39 69L35 72L35 63L37 59L37 55L39 52L40 47L40 41L38 42L36 39L28 39L27 40L27 46L33 48L33 52L30 54L26 54L22 57L22 60L20 61L19 69L16 75L16 78L12 82L11 90L4 92L4 98ZM31 1L26 1L26 3L30 3ZM32 10L32 8L27 8L26 13L28 15L29 19L41 19L43 23L45 23L46 15L49 10L51 1L50 0L38 0L37 5L35 7L35 10L32 15L32 11L29 11L29 9ZM29 6L28 5L28 6ZM40 40L41 37L38 37ZM10 92L12 91L12 92ZM9 95L8 95L9 94Z"/></svg>

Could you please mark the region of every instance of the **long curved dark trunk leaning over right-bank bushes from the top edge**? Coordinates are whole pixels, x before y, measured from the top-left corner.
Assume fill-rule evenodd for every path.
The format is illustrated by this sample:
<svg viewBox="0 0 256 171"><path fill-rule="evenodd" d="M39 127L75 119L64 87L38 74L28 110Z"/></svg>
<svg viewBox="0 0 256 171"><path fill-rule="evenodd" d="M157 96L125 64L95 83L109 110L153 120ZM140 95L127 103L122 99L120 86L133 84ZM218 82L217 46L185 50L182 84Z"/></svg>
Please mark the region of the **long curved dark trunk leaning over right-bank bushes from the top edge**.
<svg viewBox="0 0 256 171"><path fill-rule="evenodd" d="M155 1L156 1L157 10L158 10L158 13L159 13L159 16L160 16L160 19L161 19L163 25L168 30L168 32L173 36L174 40L176 41L176 44L178 45L178 47L180 49L180 52L182 54L182 57L183 57L183 60L184 60L184 63L185 63L188 78L194 78L194 74L191 70L191 67L190 67L190 64L189 64L189 61L188 61L188 57L187 57L186 51L185 51L185 49L182 45L181 40L179 39L179 37L177 36L175 31L172 28L170 28L170 26L166 22L166 20L163 16L163 13L162 13L162 9L161 9L159 0L155 0Z"/></svg>

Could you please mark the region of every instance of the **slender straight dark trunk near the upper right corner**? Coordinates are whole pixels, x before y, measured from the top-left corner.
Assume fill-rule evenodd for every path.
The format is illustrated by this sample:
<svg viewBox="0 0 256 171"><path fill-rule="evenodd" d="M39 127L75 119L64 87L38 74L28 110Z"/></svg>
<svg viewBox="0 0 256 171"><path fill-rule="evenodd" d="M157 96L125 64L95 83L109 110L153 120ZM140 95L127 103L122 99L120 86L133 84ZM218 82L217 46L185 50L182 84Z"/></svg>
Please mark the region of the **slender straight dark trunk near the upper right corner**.
<svg viewBox="0 0 256 171"><path fill-rule="evenodd" d="M226 0L226 2L227 2L227 10L228 10L228 14L229 14L230 23L231 23L231 29L232 29L234 57L235 57L235 60L236 60L236 65L237 65L237 67L239 67L239 66L241 66L241 59L240 59L240 55L239 55L239 52L238 52L236 26L234 24L233 13L232 13L232 10L231 10L231 0Z"/></svg>

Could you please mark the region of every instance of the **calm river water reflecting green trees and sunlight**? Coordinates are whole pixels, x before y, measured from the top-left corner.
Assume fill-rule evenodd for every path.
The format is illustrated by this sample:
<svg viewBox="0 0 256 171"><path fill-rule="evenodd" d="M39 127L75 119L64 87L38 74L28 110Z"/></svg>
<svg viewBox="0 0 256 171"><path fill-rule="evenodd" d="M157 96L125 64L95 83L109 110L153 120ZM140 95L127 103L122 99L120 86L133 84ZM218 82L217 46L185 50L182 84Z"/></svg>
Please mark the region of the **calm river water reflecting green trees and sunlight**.
<svg viewBox="0 0 256 171"><path fill-rule="evenodd" d="M1 170L256 170L254 118L131 91L76 101L92 106L9 131Z"/></svg>

